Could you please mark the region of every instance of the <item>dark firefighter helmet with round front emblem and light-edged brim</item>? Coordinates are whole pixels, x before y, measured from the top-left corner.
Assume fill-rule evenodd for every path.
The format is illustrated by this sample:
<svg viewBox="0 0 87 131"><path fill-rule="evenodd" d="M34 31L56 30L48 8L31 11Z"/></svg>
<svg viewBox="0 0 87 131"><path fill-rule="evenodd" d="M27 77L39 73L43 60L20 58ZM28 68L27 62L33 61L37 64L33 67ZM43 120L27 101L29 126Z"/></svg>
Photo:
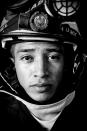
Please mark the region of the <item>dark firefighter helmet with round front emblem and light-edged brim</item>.
<svg viewBox="0 0 87 131"><path fill-rule="evenodd" d="M28 0L26 0L26 2L28 2ZM21 6L19 6L19 4L18 6L17 4L16 6L10 6L1 23L1 50L3 50L2 52L7 52L4 57L8 59L7 65L5 65L7 68L5 69L2 66L1 78L9 86L11 85L10 87L14 86L15 81L12 76L15 75L13 75L14 71L10 71L13 65L9 59L9 49L15 41L16 43L23 41L49 41L57 43L57 41L60 41L68 51L70 50L68 47L71 47L73 50L70 69L72 72L72 89L75 89L85 73L87 61L87 55L86 52L84 52L85 48L81 45L84 39L81 36L78 23L75 20L76 14L75 17L72 16L76 12L73 11L68 15L67 12L61 10L62 13L58 13L58 9L55 9L59 8L58 2L57 4L52 4L47 0L38 0L33 6L26 9L23 8L23 5L24 3L22 3ZM78 5L78 2L72 5ZM76 7L79 8L79 5ZM12 89L14 90L14 88Z"/></svg>

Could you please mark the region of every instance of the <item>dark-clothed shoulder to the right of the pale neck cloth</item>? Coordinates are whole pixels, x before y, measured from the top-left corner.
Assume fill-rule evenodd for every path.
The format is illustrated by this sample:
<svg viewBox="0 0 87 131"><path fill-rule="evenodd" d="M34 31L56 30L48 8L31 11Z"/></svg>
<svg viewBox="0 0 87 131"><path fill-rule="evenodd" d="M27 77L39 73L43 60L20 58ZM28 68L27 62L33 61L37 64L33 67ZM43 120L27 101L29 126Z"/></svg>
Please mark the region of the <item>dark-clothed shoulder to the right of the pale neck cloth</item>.
<svg viewBox="0 0 87 131"><path fill-rule="evenodd" d="M54 130L85 130L86 127L86 111L83 106L84 102L76 97L74 101L67 106L54 125ZM54 131L53 130L53 131Z"/></svg>

